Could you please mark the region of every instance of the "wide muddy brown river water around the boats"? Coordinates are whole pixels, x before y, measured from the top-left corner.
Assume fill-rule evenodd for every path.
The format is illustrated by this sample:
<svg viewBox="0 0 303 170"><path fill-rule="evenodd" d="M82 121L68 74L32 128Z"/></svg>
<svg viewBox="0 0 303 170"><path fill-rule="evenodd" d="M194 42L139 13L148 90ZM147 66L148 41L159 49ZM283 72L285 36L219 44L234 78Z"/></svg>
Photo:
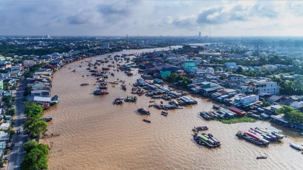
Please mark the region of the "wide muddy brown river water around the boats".
<svg viewBox="0 0 303 170"><path fill-rule="evenodd" d="M111 55L153 50L124 50ZM95 62L107 56L84 60ZM60 133L60 136L48 139L53 142L48 161L50 170L303 169L303 154L289 147L290 142L303 144L303 138L297 132L263 121L233 125L205 121L198 112L210 110L213 102L200 96L192 96L197 105L169 110L167 117L160 115L161 111L154 107L149 107L151 115L140 115L136 112L137 107L148 107L151 98L143 95L138 96L136 103L112 104L117 97L132 95L132 83L140 77L140 74L135 75L137 69L132 71L132 77L123 71L113 71L114 77L108 75L108 82L117 78L125 80L127 91L123 91L120 85L111 87L108 84L109 94L95 96L92 91L98 84L93 85L95 77L86 76L90 72L86 70L84 60L67 64L54 73L52 96L59 95L60 103L46 110L45 115L54 119L48 126L48 133ZM73 69L76 72L71 72ZM110 69L112 72L113 68ZM86 82L89 85L80 86ZM160 99L156 99L156 103L159 104ZM151 123L143 122L144 118ZM215 149L197 145L192 136L194 126L208 126L207 132L212 133L222 145ZM262 148L235 136L238 130L257 126L281 129L285 138L281 143ZM268 158L257 160L257 156Z"/></svg>

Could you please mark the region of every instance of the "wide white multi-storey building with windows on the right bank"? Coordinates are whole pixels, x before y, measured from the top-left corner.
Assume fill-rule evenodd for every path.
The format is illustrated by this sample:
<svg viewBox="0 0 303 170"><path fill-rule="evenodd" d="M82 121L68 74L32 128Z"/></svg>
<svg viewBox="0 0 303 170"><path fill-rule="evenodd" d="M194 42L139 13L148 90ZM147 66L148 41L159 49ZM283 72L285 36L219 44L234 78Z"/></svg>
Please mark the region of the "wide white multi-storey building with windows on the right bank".
<svg viewBox="0 0 303 170"><path fill-rule="evenodd" d="M269 93L269 94L279 94L280 87L277 82L258 82L255 83L254 87L257 93Z"/></svg>

